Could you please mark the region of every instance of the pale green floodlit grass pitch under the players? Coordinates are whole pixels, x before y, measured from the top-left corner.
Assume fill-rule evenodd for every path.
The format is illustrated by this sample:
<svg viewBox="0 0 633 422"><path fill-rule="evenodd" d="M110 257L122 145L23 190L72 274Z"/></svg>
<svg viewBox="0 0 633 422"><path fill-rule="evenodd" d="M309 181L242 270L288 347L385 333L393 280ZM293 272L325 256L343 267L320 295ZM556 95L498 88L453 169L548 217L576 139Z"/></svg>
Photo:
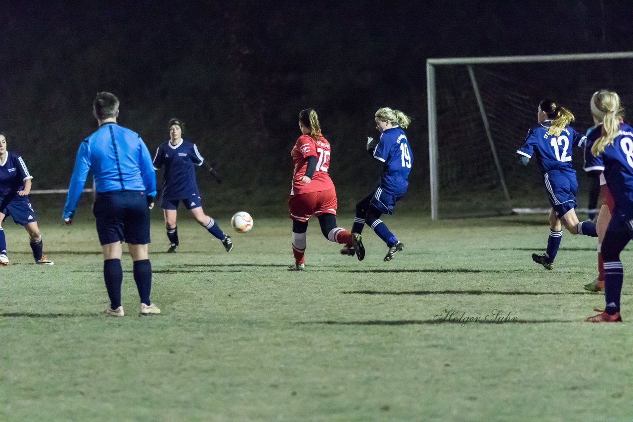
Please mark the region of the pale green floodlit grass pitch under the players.
<svg viewBox="0 0 633 422"><path fill-rule="evenodd" d="M316 221L307 270L291 273L291 221L255 212L251 233L218 240L182 213L166 254L153 221L153 301L138 315L123 260L124 318L108 306L89 211L41 223L54 266L32 263L4 224L0 420L568 421L627 420L633 382L630 252L624 323L583 320L604 296L582 290L596 242L563 234L553 271L532 263L542 217L385 218L405 245L365 230L365 261L339 255ZM187 217L187 218L185 218ZM216 214L229 230L230 214ZM339 218L349 227L351 217ZM503 321L487 322L494 309ZM437 322L456 311L470 322ZM509 316L508 316L509 314ZM489 319L492 317L489 317Z"/></svg>

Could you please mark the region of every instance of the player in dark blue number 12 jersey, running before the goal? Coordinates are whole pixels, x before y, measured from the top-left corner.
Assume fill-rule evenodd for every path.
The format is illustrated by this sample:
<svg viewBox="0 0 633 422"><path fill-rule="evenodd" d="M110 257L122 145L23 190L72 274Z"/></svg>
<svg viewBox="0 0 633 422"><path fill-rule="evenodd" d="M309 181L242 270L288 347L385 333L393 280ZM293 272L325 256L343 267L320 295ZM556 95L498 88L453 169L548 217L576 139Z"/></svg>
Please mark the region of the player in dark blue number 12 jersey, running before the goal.
<svg viewBox="0 0 633 422"><path fill-rule="evenodd" d="M582 146L585 137L569 124L573 115L551 100L541 101L537 109L539 125L527 132L523 146L517 151L524 165L536 156L548 192L552 210L549 212L549 238L546 252L532 254L532 259L546 270L554 268L554 259L563 235L561 222L572 235L596 237L596 225L580 222L576 206L576 171L572 167L572 146Z"/></svg>

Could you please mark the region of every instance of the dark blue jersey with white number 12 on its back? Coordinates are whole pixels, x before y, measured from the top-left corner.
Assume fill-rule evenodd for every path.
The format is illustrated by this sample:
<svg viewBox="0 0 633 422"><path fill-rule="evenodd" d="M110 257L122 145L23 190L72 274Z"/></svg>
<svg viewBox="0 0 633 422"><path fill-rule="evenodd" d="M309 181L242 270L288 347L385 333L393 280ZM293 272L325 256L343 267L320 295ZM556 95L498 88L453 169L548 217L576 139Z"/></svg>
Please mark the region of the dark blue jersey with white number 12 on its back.
<svg viewBox="0 0 633 422"><path fill-rule="evenodd" d="M571 126L565 126L558 136L548 133L551 121L546 120L527 131L527 137L517 154L532 158L536 155L542 173L550 170L572 171L572 146L582 146L585 137Z"/></svg>

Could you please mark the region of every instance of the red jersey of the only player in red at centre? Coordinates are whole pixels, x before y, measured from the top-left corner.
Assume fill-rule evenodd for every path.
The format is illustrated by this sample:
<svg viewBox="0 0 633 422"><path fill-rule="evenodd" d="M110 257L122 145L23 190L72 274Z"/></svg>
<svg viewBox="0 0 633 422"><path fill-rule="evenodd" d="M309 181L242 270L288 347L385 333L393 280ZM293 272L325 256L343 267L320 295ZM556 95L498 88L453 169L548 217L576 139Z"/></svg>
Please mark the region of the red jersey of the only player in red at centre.
<svg viewBox="0 0 633 422"><path fill-rule="evenodd" d="M290 154L294 161L291 195L334 189L334 183L327 174L327 169L330 167L330 142L327 142L327 139L324 137L314 139L310 135L301 135ZM310 156L316 157L315 173L310 183L303 183L301 177L306 174L307 158Z"/></svg>

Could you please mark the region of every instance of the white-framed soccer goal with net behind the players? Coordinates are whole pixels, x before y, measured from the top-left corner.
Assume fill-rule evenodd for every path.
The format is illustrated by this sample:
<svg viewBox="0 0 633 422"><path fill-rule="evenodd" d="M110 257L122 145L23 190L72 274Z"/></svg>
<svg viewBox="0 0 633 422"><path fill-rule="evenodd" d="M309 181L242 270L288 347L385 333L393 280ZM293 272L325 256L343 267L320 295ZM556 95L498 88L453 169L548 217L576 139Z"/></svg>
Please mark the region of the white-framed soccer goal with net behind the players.
<svg viewBox="0 0 633 422"><path fill-rule="evenodd" d="M633 52L427 59L432 220L549 210L536 162L524 167L516 154L539 101L570 109L584 133L596 90L633 104L632 71ZM586 208L582 149L572 157Z"/></svg>

